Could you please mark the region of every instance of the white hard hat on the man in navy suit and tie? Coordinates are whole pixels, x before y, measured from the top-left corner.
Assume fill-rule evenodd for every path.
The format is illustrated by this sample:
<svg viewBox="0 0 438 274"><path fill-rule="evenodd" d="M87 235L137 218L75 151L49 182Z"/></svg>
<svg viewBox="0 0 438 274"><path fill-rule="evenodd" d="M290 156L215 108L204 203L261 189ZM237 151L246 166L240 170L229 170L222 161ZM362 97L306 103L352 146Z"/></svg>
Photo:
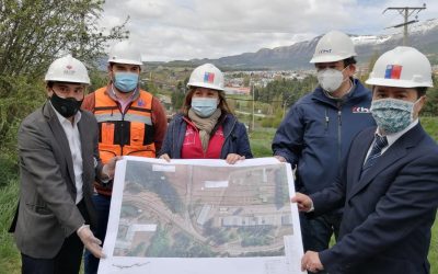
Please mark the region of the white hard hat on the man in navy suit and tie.
<svg viewBox="0 0 438 274"><path fill-rule="evenodd" d="M429 60L413 47L396 47L381 55L366 83L399 88L434 87Z"/></svg>

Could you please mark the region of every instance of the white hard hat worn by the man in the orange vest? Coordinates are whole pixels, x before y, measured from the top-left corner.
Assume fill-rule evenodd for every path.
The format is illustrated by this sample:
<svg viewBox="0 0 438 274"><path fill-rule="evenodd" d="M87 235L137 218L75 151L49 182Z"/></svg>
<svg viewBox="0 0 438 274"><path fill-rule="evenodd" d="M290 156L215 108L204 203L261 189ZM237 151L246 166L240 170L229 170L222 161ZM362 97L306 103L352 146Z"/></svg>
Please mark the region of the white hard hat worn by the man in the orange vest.
<svg viewBox="0 0 438 274"><path fill-rule="evenodd" d="M130 42L123 41L113 46L108 62L129 64L141 66L141 53Z"/></svg>

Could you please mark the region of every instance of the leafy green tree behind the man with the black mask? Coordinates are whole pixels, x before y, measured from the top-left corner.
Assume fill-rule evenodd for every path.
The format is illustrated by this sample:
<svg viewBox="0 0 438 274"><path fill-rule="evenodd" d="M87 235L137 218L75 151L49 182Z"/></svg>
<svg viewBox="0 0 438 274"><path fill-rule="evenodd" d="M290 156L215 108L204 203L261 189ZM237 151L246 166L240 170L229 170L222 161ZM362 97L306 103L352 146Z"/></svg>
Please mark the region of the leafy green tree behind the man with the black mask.
<svg viewBox="0 0 438 274"><path fill-rule="evenodd" d="M99 26L102 0L0 0L0 153L14 150L22 117L45 98L42 78L71 53L89 68L110 41L128 36L125 24Z"/></svg>

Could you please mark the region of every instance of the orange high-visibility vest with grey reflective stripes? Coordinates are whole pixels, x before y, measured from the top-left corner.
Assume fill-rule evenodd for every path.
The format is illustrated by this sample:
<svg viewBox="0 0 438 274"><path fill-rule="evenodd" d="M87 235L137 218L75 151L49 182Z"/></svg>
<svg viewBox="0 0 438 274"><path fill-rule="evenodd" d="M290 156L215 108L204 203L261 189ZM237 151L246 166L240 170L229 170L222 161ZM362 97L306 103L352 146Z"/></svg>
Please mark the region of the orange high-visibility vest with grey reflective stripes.
<svg viewBox="0 0 438 274"><path fill-rule="evenodd" d="M94 92L94 116L99 123L99 152L104 163L115 156L155 158L152 125L152 94L140 90L139 98L122 113L105 94L106 87Z"/></svg>

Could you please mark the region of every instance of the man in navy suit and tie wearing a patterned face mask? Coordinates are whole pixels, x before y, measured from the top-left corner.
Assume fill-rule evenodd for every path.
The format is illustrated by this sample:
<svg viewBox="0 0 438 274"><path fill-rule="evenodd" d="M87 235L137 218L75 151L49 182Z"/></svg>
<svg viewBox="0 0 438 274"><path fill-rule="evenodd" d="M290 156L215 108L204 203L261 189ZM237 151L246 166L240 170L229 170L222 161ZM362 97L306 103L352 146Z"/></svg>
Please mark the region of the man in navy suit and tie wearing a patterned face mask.
<svg viewBox="0 0 438 274"><path fill-rule="evenodd" d="M367 80L378 127L351 142L334 184L292 202L309 215L344 205L339 241L308 251L302 269L335 273L429 273L430 227L438 206L438 147L418 113L433 87L428 59L412 47L383 54Z"/></svg>

